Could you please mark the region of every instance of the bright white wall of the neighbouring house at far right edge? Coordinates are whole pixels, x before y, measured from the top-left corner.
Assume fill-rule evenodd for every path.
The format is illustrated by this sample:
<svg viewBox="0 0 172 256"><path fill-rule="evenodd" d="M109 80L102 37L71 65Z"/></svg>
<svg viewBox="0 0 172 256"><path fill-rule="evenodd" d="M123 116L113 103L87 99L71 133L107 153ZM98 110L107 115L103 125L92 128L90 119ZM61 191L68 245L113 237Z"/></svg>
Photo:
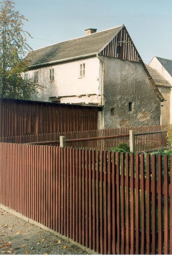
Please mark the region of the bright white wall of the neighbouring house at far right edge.
<svg viewBox="0 0 172 256"><path fill-rule="evenodd" d="M168 71L162 66L162 64L157 60L157 58L154 56L154 58L150 61L149 66L151 68L154 68L158 70L158 72L167 80L172 86L172 77L168 73ZM172 90L170 92L170 124L172 124Z"/></svg>

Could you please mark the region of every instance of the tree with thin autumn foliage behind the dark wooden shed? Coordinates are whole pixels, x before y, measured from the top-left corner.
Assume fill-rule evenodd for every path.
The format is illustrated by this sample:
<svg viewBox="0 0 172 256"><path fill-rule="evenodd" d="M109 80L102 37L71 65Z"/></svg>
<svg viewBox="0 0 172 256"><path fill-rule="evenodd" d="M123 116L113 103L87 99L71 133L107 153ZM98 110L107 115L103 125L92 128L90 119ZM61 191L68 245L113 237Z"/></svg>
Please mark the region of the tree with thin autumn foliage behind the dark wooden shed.
<svg viewBox="0 0 172 256"><path fill-rule="evenodd" d="M6 0L0 7L0 97L29 99L42 87L21 75L28 70L25 56L32 48L26 40L30 34L23 30L27 19L14 9L14 4Z"/></svg>

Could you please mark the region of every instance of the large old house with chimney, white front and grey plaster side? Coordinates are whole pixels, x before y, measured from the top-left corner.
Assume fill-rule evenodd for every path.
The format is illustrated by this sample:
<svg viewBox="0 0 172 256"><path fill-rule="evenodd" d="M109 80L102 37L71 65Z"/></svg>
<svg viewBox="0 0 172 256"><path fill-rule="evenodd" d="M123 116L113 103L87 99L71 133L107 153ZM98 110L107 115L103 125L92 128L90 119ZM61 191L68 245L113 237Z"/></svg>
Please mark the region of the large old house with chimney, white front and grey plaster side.
<svg viewBox="0 0 172 256"><path fill-rule="evenodd" d="M160 123L157 89L124 25L33 51L38 100L103 106L97 128Z"/></svg>

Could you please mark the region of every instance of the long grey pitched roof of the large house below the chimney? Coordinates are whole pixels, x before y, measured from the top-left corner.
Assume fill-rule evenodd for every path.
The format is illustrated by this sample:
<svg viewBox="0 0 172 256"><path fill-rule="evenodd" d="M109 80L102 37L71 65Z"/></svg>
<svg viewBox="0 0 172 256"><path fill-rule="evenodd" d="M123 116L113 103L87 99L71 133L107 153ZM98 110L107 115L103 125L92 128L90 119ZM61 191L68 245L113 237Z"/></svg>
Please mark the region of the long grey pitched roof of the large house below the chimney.
<svg viewBox="0 0 172 256"><path fill-rule="evenodd" d="M35 50L33 56L29 54L26 57L30 61L29 66L97 53L123 26Z"/></svg>

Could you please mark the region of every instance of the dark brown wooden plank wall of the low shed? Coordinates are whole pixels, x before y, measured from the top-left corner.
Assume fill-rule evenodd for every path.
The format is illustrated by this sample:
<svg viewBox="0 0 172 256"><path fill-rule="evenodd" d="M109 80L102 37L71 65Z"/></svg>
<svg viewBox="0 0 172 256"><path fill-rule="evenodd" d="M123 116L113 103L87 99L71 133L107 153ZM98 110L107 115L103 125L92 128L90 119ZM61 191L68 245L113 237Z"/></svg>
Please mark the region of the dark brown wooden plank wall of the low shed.
<svg viewBox="0 0 172 256"><path fill-rule="evenodd" d="M1 99L0 137L97 129L97 109Z"/></svg>

